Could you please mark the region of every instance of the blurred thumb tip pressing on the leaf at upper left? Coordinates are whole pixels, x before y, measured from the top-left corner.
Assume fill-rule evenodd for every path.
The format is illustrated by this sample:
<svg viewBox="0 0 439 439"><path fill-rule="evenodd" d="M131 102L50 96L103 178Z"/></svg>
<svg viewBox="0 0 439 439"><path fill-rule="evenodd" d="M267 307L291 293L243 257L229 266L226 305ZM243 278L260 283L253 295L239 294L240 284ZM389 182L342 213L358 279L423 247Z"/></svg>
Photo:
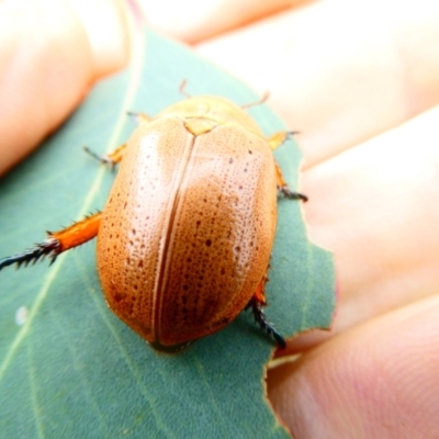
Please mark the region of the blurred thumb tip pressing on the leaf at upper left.
<svg viewBox="0 0 439 439"><path fill-rule="evenodd" d="M97 78L126 63L122 4L0 3L0 175L65 120Z"/></svg>

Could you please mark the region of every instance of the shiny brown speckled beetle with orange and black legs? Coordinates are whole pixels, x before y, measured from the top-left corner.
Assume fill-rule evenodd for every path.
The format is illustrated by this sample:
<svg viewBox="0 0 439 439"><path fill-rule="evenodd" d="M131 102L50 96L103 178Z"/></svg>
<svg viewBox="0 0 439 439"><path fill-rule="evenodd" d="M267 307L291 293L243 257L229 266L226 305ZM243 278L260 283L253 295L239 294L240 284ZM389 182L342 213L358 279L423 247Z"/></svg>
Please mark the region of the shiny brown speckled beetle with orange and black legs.
<svg viewBox="0 0 439 439"><path fill-rule="evenodd" d="M0 270L44 257L54 262L98 237L109 307L154 348L179 350L247 307L285 347L262 311L277 196L306 196L289 189L272 154L291 133L266 138L247 106L203 95L155 117L138 114L125 145L91 153L121 162L103 211L1 259Z"/></svg>

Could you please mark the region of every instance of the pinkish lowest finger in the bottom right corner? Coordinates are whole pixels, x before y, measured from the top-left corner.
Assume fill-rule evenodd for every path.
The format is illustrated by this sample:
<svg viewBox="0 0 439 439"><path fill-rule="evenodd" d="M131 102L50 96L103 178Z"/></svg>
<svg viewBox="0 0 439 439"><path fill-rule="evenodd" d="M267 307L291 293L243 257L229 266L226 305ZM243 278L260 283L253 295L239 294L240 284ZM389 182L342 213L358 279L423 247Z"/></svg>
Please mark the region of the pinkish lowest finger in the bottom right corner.
<svg viewBox="0 0 439 439"><path fill-rule="evenodd" d="M301 439L436 437L438 313L429 297L269 371L274 410Z"/></svg>

